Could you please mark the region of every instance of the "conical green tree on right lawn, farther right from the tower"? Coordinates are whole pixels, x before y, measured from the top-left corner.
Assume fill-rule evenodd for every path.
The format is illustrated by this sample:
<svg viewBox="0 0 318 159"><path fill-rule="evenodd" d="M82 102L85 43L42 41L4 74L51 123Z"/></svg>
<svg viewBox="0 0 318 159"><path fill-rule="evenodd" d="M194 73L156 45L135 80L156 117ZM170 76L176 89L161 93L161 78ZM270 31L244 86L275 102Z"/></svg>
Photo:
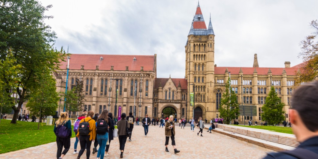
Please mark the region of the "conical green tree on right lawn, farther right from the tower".
<svg viewBox="0 0 318 159"><path fill-rule="evenodd" d="M265 104L262 107L262 119L267 121L269 125L275 125L285 120L283 107L284 103L281 102L280 98L277 97L275 88L272 86L271 91L268 93L268 96L265 100Z"/></svg>

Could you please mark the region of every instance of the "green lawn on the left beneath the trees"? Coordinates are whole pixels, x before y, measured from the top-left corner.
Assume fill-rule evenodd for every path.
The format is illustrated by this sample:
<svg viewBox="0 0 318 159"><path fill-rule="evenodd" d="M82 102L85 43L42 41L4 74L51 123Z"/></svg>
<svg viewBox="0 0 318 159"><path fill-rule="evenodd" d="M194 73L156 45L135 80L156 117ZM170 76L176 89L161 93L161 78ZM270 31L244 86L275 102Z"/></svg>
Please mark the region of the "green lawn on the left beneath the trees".
<svg viewBox="0 0 318 159"><path fill-rule="evenodd" d="M37 122L1 120L0 124L0 154L55 142L53 126L41 126ZM73 129L73 126L72 126ZM72 132L72 137L75 137Z"/></svg>

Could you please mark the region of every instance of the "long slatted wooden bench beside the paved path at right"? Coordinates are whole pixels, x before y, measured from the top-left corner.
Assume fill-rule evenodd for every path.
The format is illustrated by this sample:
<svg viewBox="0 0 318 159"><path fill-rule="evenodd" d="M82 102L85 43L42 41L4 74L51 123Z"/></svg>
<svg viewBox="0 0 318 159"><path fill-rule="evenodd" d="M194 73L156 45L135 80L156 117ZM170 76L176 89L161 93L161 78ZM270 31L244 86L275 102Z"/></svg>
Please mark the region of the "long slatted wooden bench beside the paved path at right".
<svg viewBox="0 0 318 159"><path fill-rule="evenodd" d="M246 129L244 129L244 127L239 128L237 126L228 126L225 124L218 124L218 128L223 129L224 131L228 131L228 132L232 132L232 133L236 133L236 134L241 134L241 135L245 135L245 136L249 136L249 137L253 137L253 138L257 138L257 139L262 139L262 140L266 140L266 141L270 141L270 142L275 142L275 143L279 143L279 144L283 144L283 145L287 145L287 146L297 147L299 145L299 142L297 141L297 139L295 137L288 137L288 136L283 136L283 135L275 135L275 134L271 134L271 133L246 130ZM224 132L220 132L220 131L218 131L218 133L224 134ZM247 139L243 139L242 137L236 137L235 135L229 135L229 136L238 138L238 139L243 140L243 141L253 143L253 141L248 141ZM259 145L259 143L257 145ZM276 150L276 151L281 150L281 149L277 149L277 147L271 148L271 145L264 144L264 146L268 147L269 149Z"/></svg>

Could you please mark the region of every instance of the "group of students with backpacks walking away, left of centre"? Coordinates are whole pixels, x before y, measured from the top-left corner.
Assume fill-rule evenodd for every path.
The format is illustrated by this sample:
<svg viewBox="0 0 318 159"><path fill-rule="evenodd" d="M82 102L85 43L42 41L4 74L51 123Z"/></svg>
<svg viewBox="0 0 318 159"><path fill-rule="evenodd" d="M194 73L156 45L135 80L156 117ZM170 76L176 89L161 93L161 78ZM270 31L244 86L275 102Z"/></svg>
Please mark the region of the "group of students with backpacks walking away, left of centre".
<svg viewBox="0 0 318 159"><path fill-rule="evenodd" d="M126 114L122 113L121 120L117 122L121 158L123 157L127 140L126 127L129 128L129 126L130 124L126 120ZM77 159L79 159L86 149L86 158L89 159L91 153L90 147L92 142L94 142L93 153L97 152L97 159L103 159L104 156L108 156L110 142L114 140L114 129L113 114L108 113L107 109L103 110L100 115L95 114L95 116L93 111L87 113L84 111L74 123L73 131L75 132L76 140L74 143L73 154L78 154ZM72 137L71 121L69 120L67 112L60 114L53 131L56 134L56 143L58 147L56 157L57 159L62 159L70 149L70 139ZM78 142L80 144L79 152L77 151ZM99 145L98 150L96 148L96 143ZM64 151L62 152L63 147Z"/></svg>

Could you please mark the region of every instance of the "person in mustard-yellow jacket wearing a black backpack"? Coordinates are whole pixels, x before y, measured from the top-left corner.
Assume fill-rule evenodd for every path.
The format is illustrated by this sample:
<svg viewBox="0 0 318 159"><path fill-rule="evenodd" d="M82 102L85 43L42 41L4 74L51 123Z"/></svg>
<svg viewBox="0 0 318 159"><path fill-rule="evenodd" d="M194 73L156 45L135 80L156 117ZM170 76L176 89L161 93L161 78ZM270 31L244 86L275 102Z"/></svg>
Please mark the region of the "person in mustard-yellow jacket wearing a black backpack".
<svg viewBox="0 0 318 159"><path fill-rule="evenodd" d="M91 155L91 144L95 141L96 137L96 122L92 119L94 115L93 111L88 111L87 117L79 122L79 129L76 137L79 138L80 151L77 159L83 155L86 149L86 159L89 159Z"/></svg>

